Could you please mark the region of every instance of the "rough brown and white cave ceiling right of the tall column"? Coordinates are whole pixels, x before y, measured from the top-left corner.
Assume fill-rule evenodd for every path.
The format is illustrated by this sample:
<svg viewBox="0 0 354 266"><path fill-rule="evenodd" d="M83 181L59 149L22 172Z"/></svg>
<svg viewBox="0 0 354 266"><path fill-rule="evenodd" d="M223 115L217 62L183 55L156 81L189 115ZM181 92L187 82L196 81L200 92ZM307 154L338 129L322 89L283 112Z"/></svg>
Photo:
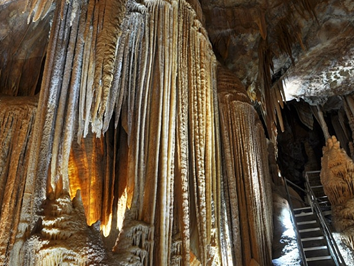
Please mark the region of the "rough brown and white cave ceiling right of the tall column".
<svg viewBox="0 0 354 266"><path fill-rule="evenodd" d="M266 88L282 78L289 99L315 104L352 91L352 1L206 0L202 6L218 59L249 92L269 79L258 72L262 64L273 70ZM262 42L271 60L259 57Z"/></svg>

